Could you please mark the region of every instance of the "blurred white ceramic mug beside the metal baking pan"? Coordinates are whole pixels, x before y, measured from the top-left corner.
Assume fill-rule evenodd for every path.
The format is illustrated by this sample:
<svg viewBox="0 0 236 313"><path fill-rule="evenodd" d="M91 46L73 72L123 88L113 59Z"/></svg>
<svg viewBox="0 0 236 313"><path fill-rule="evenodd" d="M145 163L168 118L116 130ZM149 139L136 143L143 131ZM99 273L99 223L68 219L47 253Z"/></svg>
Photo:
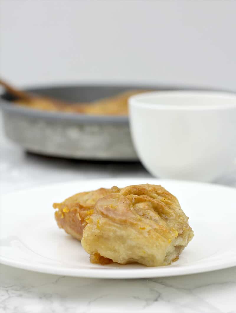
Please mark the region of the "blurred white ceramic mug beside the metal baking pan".
<svg viewBox="0 0 236 313"><path fill-rule="evenodd" d="M213 181L236 157L236 95L157 91L129 99L133 143L143 165L161 178Z"/></svg>

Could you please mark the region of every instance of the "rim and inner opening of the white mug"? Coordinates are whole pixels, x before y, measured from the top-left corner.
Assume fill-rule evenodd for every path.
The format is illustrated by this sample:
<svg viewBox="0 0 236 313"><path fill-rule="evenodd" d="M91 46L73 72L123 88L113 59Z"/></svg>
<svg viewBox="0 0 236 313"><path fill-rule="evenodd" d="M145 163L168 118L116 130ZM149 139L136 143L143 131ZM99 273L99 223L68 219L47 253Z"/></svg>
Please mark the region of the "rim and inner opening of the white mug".
<svg viewBox="0 0 236 313"><path fill-rule="evenodd" d="M155 98L158 101L159 97L168 97L173 98L183 97L195 97L200 100L200 98L205 98L204 101L207 101L210 98L218 99L222 98L222 103L218 104L168 104L168 103L153 103ZM150 100L152 99L152 103ZM230 99L230 101L229 101ZM148 101L149 100L149 101ZM172 99L173 100L173 99ZM190 101L193 99L190 99ZM233 101L232 101L233 100ZM230 103L231 102L231 103ZM133 95L128 99L129 107L138 107L145 109L158 109L158 110L226 110L236 108L236 93L224 92L224 91L203 91L203 90L161 90L161 91L151 91L145 92L138 95Z"/></svg>

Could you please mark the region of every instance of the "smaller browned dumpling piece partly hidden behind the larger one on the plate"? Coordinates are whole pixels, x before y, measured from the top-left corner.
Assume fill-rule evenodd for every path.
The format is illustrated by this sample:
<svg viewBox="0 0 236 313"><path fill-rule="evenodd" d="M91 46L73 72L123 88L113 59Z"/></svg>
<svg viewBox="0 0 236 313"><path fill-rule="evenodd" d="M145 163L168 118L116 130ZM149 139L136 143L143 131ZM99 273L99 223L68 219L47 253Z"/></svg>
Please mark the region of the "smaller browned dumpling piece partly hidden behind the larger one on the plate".
<svg viewBox="0 0 236 313"><path fill-rule="evenodd" d="M55 212L58 227L81 240L83 228L86 225L85 219L93 214L94 204L99 198L111 192L114 192L114 189L100 188L90 192L77 193L62 203L53 203L53 208L58 209Z"/></svg>

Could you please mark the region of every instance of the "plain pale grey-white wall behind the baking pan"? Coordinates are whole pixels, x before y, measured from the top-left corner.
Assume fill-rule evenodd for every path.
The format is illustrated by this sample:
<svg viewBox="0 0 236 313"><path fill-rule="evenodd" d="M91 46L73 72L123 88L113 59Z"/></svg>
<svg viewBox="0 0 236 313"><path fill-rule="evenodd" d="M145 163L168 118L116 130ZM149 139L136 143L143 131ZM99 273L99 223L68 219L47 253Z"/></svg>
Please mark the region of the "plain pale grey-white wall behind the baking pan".
<svg viewBox="0 0 236 313"><path fill-rule="evenodd" d="M236 1L1 0L1 76L236 90Z"/></svg>

